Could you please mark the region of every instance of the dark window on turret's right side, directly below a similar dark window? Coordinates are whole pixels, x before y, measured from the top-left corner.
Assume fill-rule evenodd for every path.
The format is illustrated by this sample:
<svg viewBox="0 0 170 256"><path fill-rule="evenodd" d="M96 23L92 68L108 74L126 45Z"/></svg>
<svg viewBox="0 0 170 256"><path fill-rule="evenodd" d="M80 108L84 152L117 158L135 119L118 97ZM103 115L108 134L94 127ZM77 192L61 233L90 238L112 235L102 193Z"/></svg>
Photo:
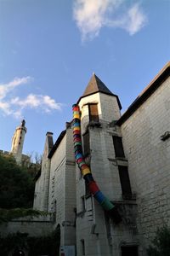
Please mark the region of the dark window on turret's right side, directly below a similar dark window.
<svg viewBox="0 0 170 256"><path fill-rule="evenodd" d="M122 187L122 196L125 199L132 198L132 190L128 176L127 166L118 166L118 169Z"/></svg>

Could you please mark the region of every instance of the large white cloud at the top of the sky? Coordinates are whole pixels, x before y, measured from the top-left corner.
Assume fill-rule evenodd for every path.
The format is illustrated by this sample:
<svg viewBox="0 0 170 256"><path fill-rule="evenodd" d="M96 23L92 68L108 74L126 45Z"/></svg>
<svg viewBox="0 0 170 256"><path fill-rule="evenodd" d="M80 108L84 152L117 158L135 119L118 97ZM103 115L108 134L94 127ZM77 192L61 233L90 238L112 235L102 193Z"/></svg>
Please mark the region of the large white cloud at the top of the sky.
<svg viewBox="0 0 170 256"><path fill-rule="evenodd" d="M133 35L147 21L139 3L127 9L125 0L75 0L73 16L82 41L97 37L103 26L122 28Z"/></svg>

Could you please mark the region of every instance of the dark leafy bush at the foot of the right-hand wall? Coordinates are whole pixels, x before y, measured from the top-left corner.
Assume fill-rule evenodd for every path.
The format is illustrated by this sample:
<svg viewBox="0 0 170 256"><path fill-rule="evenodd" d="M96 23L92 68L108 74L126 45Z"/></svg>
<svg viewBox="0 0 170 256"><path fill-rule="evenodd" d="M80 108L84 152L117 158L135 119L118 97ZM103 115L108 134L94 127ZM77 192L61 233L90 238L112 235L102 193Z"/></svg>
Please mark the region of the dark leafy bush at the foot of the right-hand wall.
<svg viewBox="0 0 170 256"><path fill-rule="evenodd" d="M164 226L157 230L147 253L148 256L170 256L170 228Z"/></svg>

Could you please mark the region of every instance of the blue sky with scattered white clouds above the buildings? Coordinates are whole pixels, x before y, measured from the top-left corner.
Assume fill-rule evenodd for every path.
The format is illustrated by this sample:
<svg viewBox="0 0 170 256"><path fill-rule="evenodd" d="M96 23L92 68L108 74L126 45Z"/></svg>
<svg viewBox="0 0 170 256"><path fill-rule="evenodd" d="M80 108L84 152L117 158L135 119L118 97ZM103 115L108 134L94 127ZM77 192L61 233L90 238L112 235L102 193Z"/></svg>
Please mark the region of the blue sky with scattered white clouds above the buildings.
<svg viewBox="0 0 170 256"><path fill-rule="evenodd" d="M42 154L93 73L122 113L170 61L170 0L0 0L0 149Z"/></svg>

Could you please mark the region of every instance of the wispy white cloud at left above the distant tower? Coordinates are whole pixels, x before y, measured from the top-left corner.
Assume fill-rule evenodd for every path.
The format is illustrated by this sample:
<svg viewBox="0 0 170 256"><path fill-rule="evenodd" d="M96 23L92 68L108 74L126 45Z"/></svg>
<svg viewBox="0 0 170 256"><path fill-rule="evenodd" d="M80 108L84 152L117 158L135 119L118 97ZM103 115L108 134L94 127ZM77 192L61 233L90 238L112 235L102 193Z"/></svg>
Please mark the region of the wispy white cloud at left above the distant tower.
<svg viewBox="0 0 170 256"><path fill-rule="evenodd" d="M45 113L61 109L62 104L55 102L50 96L29 94L24 99L18 96L10 97L12 90L17 86L30 83L31 80L31 77L15 78L8 84L0 84L0 110L3 114L20 118L26 108L34 108Z"/></svg>

